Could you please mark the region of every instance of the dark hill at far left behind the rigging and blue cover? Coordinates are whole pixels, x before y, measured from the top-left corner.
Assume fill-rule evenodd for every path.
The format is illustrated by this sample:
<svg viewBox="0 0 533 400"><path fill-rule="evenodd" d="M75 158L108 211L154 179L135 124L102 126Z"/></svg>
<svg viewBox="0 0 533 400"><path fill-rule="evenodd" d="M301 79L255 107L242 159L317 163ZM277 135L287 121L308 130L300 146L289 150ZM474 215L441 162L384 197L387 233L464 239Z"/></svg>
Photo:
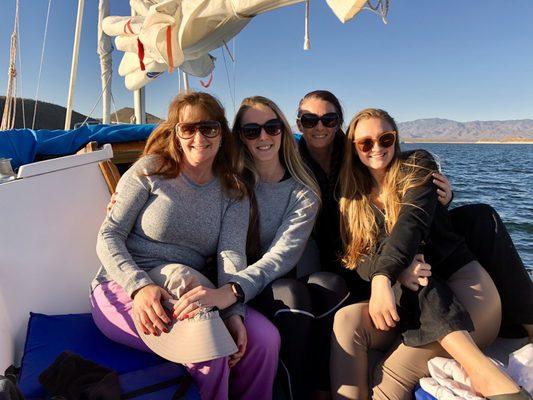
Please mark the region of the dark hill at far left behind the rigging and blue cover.
<svg viewBox="0 0 533 400"><path fill-rule="evenodd" d="M4 111L5 96L0 96L0 119ZM31 128L33 121L33 109L35 101L24 99L24 111L26 116L26 128ZM39 101L37 103L37 115L35 117L35 129L63 129L65 127L65 115L67 110L63 106ZM118 121L123 123L132 123L134 121L134 110L131 107L124 107L117 111ZM85 121L87 116L76 111L72 112L72 126ZM157 124L161 119L155 115L146 113L146 120L149 124ZM111 121L115 122L115 114L111 114ZM90 118L89 123L99 123L100 119ZM17 113L15 115L15 128L23 128L22 119L22 101L17 99Z"/></svg>

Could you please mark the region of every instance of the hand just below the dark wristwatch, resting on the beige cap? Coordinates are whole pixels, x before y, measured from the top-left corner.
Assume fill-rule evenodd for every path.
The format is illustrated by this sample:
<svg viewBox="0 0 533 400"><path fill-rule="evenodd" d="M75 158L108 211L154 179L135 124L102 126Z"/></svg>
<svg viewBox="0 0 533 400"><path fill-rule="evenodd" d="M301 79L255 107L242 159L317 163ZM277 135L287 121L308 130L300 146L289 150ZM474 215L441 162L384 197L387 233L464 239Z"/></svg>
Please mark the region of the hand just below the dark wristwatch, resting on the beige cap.
<svg viewBox="0 0 533 400"><path fill-rule="evenodd" d="M174 305L173 316L176 319L192 318L198 314L202 308L217 307L219 310L228 308L237 301L231 290L231 285L227 284L218 289L205 286L197 286L183 296Z"/></svg>

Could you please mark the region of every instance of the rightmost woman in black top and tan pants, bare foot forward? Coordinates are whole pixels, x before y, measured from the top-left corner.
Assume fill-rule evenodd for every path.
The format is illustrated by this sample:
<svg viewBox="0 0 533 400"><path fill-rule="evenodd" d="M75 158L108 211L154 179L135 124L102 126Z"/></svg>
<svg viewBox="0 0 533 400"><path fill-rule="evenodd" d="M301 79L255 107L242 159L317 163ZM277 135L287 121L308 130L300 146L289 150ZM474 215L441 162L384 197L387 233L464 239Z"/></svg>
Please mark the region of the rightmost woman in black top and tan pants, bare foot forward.
<svg viewBox="0 0 533 400"><path fill-rule="evenodd" d="M342 262L371 281L371 296L368 306L346 309L369 314L373 326L361 320L355 330L350 327L353 341L344 343L343 350L353 353L351 364L338 354L340 348L332 354L332 365L337 367L332 368L332 384L339 398L368 398L367 350L396 339L399 332L405 345L438 342L483 396L519 393L520 388L476 346L479 333L473 340L468 313L443 283L465 271L485 272L453 232L446 208L437 202L431 182L435 171L429 153L401 153L398 128L385 111L363 110L350 123L339 179ZM485 290L493 292L485 313L496 310L493 323L499 326L499 301L491 305L497 292L490 282ZM467 304L465 308L470 311ZM346 326L339 325L334 334L345 335ZM348 387L346 381L352 377Z"/></svg>

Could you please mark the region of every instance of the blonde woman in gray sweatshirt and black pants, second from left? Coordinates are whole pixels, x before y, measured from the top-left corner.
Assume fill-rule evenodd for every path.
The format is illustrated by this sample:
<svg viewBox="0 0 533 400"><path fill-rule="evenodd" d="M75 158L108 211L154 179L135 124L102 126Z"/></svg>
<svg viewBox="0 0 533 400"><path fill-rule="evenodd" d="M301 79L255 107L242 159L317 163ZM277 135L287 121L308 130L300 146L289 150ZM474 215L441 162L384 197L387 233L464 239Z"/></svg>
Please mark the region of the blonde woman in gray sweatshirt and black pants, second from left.
<svg viewBox="0 0 533 400"><path fill-rule="evenodd" d="M253 192L249 265L236 274L236 282L245 301L252 301L280 331L289 398L309 399L311 373L328 375L329 357L323 358L320 347L329 341L333 310L347 295L337 276L302 272L301 256L319 209L320 190L274 102L261 96L244 99L233 132Z"/></svg>

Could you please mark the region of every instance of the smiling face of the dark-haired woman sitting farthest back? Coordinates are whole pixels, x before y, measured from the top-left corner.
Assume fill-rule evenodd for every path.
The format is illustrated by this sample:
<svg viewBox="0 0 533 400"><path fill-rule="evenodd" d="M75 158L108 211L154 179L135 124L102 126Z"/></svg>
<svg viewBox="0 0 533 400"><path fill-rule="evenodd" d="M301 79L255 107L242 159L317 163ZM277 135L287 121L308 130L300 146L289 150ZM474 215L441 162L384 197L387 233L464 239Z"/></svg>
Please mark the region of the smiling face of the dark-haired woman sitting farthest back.
<svg viewBox="0 0 533 400"><path fill-rule="evenodd" d="M299 114L316 114L321 117L327 113L336 113L335 106L328 101L324 101L315 97L304 100L300 106ZM324 149L332 145L335 133L339 129L338 126L327 128L319 121L313 128L304 128L298 122L298 128L302 132L307 146L315 149Z"/></svg>

